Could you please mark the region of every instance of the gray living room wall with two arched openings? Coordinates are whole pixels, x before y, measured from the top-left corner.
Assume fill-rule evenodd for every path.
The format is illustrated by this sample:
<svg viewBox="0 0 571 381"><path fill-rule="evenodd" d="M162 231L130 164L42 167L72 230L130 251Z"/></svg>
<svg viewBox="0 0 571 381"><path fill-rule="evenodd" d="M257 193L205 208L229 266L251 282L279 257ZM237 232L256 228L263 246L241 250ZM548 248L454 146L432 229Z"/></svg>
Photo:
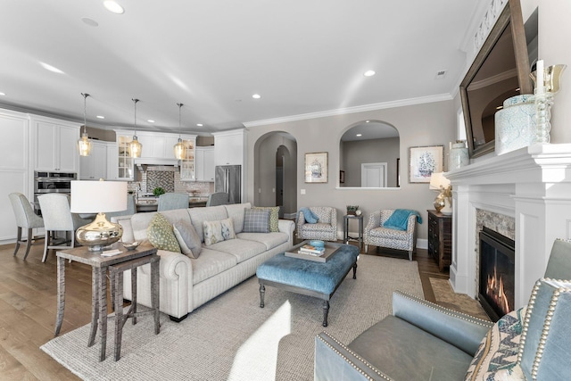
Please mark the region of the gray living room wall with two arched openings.
<svg viewBox="0 0 571 381"><path fill-rule="evenodd" d="M265 161L261 161L261 158L268 157L269 154L264 153L262 155L257 152L261 146L259 139L265 138L272 131L284 131L294 137L297 143L295 210L302 206L333 206L337 209L338 220L341 221L346 211L346 205L359 204L365 215L365 222L367 222L371 212L380 209L414 209L419 211L423 218L422 225L418 226L418 238L426 239L426 209L433 209L436 194L428 189L426 183L409 183L409 147L444 145L444 170L446 170L448 143L456 139L456 111L454 102L450 100L249 127L248 147L253 147L253 149L248 150L246 165L249 173L255 174L255 176L247 179L245 199L255 203L260 197L257 193L260 188L258 185L265 181L264 178L271 178L269 181L273 181L271 174L264 171L263 168L260 170L254 168L254 163L264 165L263 162ZM340 138L345 130L362 120L382 120L398 129L401 138L399 153L401 157L400 188L354 189L339 187ZM327 184L304 183L304 153L315 152L328 153L329 181ZM275 150L272 154L275 154ZM305 190L305 195L301 195L302 189ZM340 230L342 229L341 222L339 222L338 227ZM352 227L351 229L355 231L355 228Z"/></svg>

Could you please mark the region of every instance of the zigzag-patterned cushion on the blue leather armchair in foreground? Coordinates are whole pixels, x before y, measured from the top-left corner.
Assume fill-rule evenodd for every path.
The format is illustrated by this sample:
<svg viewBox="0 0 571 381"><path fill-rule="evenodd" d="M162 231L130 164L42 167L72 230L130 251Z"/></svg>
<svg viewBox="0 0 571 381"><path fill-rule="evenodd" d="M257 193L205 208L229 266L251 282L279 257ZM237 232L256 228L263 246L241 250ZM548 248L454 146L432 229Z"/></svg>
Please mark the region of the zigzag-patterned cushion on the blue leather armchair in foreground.
<svg viewBox="0 0 571 381"><path fill-rule="evenodd" d="M520 370L516 363L524 316L525 308L511 311L493 325L470 363L467 380L500 380Z"/></svg>

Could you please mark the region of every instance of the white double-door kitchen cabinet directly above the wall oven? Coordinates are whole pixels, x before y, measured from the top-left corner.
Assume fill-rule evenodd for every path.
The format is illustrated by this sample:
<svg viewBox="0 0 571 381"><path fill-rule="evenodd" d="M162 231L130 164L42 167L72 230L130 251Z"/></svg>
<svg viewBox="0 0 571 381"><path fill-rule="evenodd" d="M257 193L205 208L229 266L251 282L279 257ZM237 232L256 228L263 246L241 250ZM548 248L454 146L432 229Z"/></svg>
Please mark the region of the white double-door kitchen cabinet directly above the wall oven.
<svg viewBox="0 0 571 381"><path fill-rule="evenodd" d="M35 170L77 172L79 125L60 120L32 119Z"/></svg>

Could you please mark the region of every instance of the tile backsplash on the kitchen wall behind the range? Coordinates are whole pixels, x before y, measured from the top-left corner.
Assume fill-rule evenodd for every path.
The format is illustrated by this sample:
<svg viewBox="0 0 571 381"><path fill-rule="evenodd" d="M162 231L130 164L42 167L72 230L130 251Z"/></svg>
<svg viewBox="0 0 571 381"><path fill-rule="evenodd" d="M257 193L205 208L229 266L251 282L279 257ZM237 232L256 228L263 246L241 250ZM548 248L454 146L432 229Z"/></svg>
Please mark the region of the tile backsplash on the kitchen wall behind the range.
<svg viewBox="0 0 571 381"><path fill-rule="evenodd" d="M174 166L148 166L145 171L136 168L137 181L129 182L128 190L135 191L141 186L141 192L150 193L156 186L161 186L166 192L189 193L207 196L214 192L214 183L203 181L181 181L180 170Z"/></svg>

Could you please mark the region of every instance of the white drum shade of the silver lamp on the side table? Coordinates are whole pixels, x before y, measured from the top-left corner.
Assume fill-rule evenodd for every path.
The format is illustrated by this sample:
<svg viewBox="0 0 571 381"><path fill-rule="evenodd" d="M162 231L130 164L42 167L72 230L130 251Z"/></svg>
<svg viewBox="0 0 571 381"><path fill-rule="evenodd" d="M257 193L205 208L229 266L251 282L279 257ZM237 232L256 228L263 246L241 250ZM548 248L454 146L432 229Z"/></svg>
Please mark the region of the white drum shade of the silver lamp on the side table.
<svg viewBox="0 0 571 381"><path fill-rule="evenodd" d="M71 181L71 212L100 213L127 209L123 181Z"/></svg>

